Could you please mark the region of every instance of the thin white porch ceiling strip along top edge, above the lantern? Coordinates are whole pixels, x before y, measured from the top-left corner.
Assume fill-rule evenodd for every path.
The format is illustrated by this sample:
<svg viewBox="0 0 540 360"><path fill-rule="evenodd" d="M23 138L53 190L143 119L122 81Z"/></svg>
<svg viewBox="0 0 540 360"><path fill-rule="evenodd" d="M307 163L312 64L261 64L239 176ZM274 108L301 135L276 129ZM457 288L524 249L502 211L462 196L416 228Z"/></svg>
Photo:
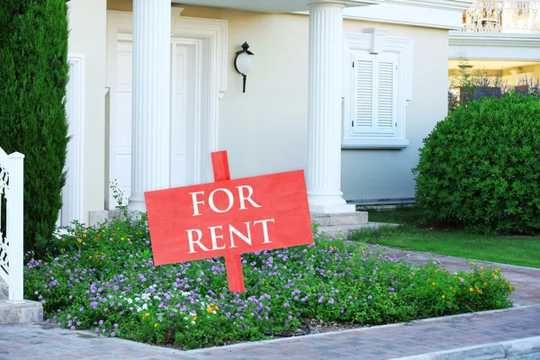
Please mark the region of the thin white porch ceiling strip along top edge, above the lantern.
<svg viewBox="0 0 540 360"><path fill-rule="evenodd" d="M172 0L173 4L220 7L259 13L308 11L310 3L346 4L347 7L381 4L384 0Z"/></svg>

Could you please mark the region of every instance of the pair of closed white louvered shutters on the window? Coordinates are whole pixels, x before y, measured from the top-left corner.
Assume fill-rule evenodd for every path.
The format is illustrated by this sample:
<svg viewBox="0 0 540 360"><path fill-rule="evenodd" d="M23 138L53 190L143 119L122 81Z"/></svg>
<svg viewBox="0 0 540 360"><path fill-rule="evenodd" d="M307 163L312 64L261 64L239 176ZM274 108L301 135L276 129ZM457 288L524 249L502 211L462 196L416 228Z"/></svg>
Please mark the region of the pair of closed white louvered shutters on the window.
<svg viewBox="0 0 540 360"><path fill-rule="evenodd" d="M353 119L357 135L389 135L396 132L397 56L356 53L353 68Z"/></svg>

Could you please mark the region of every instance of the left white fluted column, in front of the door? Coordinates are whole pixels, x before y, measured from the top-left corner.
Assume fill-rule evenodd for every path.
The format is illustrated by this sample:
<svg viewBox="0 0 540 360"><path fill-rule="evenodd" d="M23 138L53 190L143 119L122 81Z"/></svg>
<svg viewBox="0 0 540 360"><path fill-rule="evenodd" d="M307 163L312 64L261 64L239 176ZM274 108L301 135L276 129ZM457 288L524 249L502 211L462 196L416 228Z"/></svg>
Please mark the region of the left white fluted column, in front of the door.
<svg viewBox="0 0 540 360"><path fill-rule="evenodd" d="M170 0L133 1L131 210L170 184Z"/></svg>

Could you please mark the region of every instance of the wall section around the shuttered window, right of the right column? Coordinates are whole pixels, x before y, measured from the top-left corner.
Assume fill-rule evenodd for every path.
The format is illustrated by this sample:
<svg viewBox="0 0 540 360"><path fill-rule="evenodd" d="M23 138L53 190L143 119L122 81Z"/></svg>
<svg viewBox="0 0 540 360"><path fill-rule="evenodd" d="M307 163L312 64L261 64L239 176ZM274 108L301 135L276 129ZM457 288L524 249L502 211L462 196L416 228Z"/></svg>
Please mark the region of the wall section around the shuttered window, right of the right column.
<svg viewBox="0 0 540 360"><path fill-rule="evenodd" d="M361 31L367 23L346 22L346 31ZM389 36L413 39L413 90L407 107L403 149L347 149L342 151L341 190L347 200L414 197L414 175L422 139L447 112L448 35L444 30L369 24L390 30Z"/></svg>

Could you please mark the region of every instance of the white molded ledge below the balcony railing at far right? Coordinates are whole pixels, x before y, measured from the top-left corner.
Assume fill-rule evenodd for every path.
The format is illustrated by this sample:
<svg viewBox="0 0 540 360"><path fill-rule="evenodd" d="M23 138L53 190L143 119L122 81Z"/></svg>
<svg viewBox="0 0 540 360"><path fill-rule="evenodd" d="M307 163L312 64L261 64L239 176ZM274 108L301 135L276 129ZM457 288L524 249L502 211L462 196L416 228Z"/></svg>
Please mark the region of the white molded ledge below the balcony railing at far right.
<svg viewBox="0 0 540 360"><path fill-rule="evenodd" d="M530 60L540 58L540 34L450 31L449 58Z"/></svg>

